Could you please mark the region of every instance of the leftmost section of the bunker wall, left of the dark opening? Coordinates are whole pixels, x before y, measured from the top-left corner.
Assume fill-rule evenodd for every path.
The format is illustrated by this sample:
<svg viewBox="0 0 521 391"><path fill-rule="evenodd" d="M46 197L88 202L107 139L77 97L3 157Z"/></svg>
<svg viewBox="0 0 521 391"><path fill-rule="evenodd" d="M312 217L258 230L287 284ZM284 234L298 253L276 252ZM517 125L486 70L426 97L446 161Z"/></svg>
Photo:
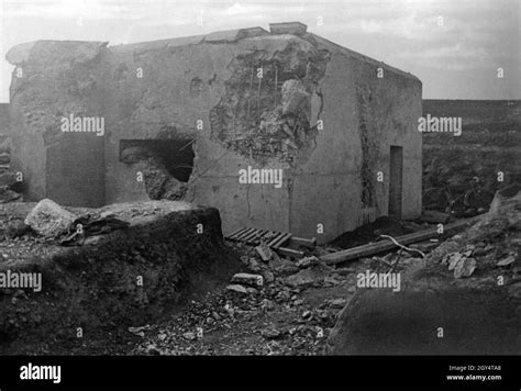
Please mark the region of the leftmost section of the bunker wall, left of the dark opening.
<svg viewBox="0 0 521 391"><path fill-rule="evenodd" d="M15 46L10 89L12 168L23 172L30 200L96 206L104 203L103 139L64 133L62 119L102 116L99 60L107 44L38 41Z"/></svg>

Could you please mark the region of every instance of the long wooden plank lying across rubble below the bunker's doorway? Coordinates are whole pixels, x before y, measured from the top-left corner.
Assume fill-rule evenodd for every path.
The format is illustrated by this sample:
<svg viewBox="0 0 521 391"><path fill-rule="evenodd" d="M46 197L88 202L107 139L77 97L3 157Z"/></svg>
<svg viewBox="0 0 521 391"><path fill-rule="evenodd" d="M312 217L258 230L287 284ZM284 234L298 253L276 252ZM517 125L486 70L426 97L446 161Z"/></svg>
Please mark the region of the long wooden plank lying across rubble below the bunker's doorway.
<svg viewBox="0 0 521 391"><path fill-rule="evenodd" d="M459 221L452 224L447 224L444 226L442 235L451 235L458 231L463 231L465 227L474 223L478 217L479 216ZM408 234L403 236L398 236L396 237L396 241L402 245L407 245L410 243L422 242L422 241L426 241L432 237L437 237L442 235L437 233L437 227L436 227L436 228L414 232L412 234ZM369 243L367 245L344 249L342 252L337 252L333 254L323 255L320 257L320 259L323 260L328 265L334 265L334 264L343 262L345 260L358 259L361 257L367 257L369 255L387 252L395 247L396 245L391 241L385 239L381 242Z"/></svg>

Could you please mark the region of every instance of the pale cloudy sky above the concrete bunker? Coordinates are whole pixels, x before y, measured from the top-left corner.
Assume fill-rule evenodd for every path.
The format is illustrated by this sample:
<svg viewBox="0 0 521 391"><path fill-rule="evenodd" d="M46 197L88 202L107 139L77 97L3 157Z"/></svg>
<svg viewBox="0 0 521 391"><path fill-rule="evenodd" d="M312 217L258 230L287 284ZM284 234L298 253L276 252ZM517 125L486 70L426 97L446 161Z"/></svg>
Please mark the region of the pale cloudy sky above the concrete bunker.
<svg viewBox="0 0 521 391"><path fill-rule="evenodd" d="M415 75L424 99L521 99L521 0L0 0L0 102L5 53L21 43L117 45L289 21Z"/></svg>

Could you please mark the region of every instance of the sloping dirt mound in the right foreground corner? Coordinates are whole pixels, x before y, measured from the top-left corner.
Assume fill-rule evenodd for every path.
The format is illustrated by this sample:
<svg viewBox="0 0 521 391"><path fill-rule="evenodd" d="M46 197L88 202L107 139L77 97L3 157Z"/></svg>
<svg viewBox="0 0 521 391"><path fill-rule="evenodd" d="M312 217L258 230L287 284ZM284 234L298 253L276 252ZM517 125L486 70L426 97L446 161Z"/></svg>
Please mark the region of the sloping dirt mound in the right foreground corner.
<svg viewBox="0 0 521 391"><path fill-rule="evenodd" d="M521 193L443 243L399 292L358 289L330 354L520 354Z"/></svg>

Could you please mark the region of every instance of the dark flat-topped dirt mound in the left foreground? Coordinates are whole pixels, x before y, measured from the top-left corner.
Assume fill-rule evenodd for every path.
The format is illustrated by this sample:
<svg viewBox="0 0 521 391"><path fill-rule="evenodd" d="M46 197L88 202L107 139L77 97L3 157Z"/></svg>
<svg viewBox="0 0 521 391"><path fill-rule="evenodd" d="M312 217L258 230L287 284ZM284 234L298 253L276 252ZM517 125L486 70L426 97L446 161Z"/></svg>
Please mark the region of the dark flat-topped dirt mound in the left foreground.
<svg viewBox="0 0 521 391"><path fill-rule="evenodd" d="M120 353L111 348L125 348L129 327L160 319L187 294L212 290L236 271L240 260L224 246L215 209L166 201L123 206L104 210L129 217L129 227L81 246L34 236L0 242L1 354ZM22 275L38 287L14 286Z"/></svg>

